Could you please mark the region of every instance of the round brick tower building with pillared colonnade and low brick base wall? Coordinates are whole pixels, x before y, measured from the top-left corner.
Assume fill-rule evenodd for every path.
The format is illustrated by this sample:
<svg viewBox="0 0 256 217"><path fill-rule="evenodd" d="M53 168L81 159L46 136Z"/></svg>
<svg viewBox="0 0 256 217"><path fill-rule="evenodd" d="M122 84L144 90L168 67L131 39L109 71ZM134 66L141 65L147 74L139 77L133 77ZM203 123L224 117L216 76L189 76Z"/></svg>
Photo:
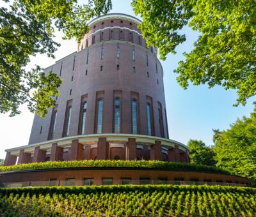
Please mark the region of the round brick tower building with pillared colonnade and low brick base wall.
<svg viewBox="0 0 256 217"><path fill-rule="evenodd" d="M89 23L77 52L45 69L62 79L56 106L44 118L35 115L29 144L7 149L4 165L70 160L189 163L188 148L168 138L164 72L157 48L146 44L137 27L140 22L120 13L97 17ZM77 171L33 172L29 179L72 178L77 184L86 176L99 180L105 176L116 177L115 184L119 176L113 170L90 170L90 175L88 170ZM122 171L120 177L129 176ZM136 179L147 174L140 171ZM5 179L17 181L17 177L28 181L24 174Z"/></svg>

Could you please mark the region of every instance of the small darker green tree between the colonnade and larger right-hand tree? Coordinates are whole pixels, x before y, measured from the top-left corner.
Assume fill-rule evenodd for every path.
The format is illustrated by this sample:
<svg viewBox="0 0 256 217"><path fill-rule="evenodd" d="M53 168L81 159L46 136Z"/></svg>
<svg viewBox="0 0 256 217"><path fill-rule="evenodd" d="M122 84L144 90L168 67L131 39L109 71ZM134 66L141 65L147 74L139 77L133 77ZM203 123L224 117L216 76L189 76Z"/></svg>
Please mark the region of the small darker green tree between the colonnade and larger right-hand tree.
<svg viewBox="0 0 256 217"><path fill-rule="evenodd" d="M212 147L205 146L202 140L189 140L189 158L191 163L214 165L214 152Z"/></svg>

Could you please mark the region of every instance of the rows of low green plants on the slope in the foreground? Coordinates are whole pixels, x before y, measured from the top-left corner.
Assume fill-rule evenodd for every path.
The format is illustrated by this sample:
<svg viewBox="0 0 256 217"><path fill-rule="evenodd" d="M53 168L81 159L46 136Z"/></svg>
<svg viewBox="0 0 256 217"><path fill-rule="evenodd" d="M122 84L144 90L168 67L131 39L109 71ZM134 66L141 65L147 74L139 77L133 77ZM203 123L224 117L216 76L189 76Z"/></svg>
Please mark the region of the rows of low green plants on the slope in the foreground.
<svg viewBox="0 0 256 217"><path fill-rule="evenodd" d="M0 188L1 216L255 216L256 189L223 186Z"/></svg>

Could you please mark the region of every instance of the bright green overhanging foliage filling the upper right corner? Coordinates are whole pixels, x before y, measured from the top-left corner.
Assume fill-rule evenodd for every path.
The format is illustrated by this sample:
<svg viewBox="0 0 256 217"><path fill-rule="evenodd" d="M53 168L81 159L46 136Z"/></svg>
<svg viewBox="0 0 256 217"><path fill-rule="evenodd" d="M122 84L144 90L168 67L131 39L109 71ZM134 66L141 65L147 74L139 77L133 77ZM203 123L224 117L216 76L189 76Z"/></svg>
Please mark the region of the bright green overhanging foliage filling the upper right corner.
<svg viewBox="0 0 256 217"><path fill-rule="evenodd" d="M255 0L134 0L132 7L143 19L147 44L158 47L161 59L186 40L182 27L200 33L175 70L184 89L189 81L236 89L236 105L256 94Z"/></svg>

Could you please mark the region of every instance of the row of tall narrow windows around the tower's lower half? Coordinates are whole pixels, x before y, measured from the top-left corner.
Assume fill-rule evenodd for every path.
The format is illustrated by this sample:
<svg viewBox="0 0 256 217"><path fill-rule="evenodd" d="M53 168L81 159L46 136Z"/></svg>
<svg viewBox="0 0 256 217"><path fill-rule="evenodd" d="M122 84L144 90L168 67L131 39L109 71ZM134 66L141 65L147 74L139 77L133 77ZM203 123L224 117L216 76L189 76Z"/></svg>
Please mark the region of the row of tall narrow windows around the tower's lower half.
<svg viewBox="0 0 256 217"><path fill-rule="evenodd" d="M158 108L158 119L159 119L159 128L161 131L161 137L164 137L164 126L163 126L163 114L161 103L159 103ZM138 126L139 126L139 117L138 117L138 100L136 98L132 98L131 101L131 114L132 114L132 133L139 134ZM87 112L87 101L83 101L81 103L81 115L79 121L79 134L83 135L86 133L86 112ZM148 135L154 135L154 112L152 110L152 103L147 103L146 111L147 113L147 131ZM51 118L51 126L50 126L50 133L49 139L54 139L54 133L56 128L56 119L57 119L58 110L54 108L52 111L52 118ZM68 137L70 134L70 121L71 121L71 114L72 114L72 105L67 106L66 114L65 114L65 121L64 121L64 128L63 128L63 137ZM102 115L103 115L103 98L99 98L96 104L96 127L95 133L102 133ZM113 116L114 116L114 133L120 133L120 123L121 123L121 100L120 98L114 99L114 109L113 109ZM167 124L167 121L166 121ZM42 132L42 126L40 129Z"/></svg>

